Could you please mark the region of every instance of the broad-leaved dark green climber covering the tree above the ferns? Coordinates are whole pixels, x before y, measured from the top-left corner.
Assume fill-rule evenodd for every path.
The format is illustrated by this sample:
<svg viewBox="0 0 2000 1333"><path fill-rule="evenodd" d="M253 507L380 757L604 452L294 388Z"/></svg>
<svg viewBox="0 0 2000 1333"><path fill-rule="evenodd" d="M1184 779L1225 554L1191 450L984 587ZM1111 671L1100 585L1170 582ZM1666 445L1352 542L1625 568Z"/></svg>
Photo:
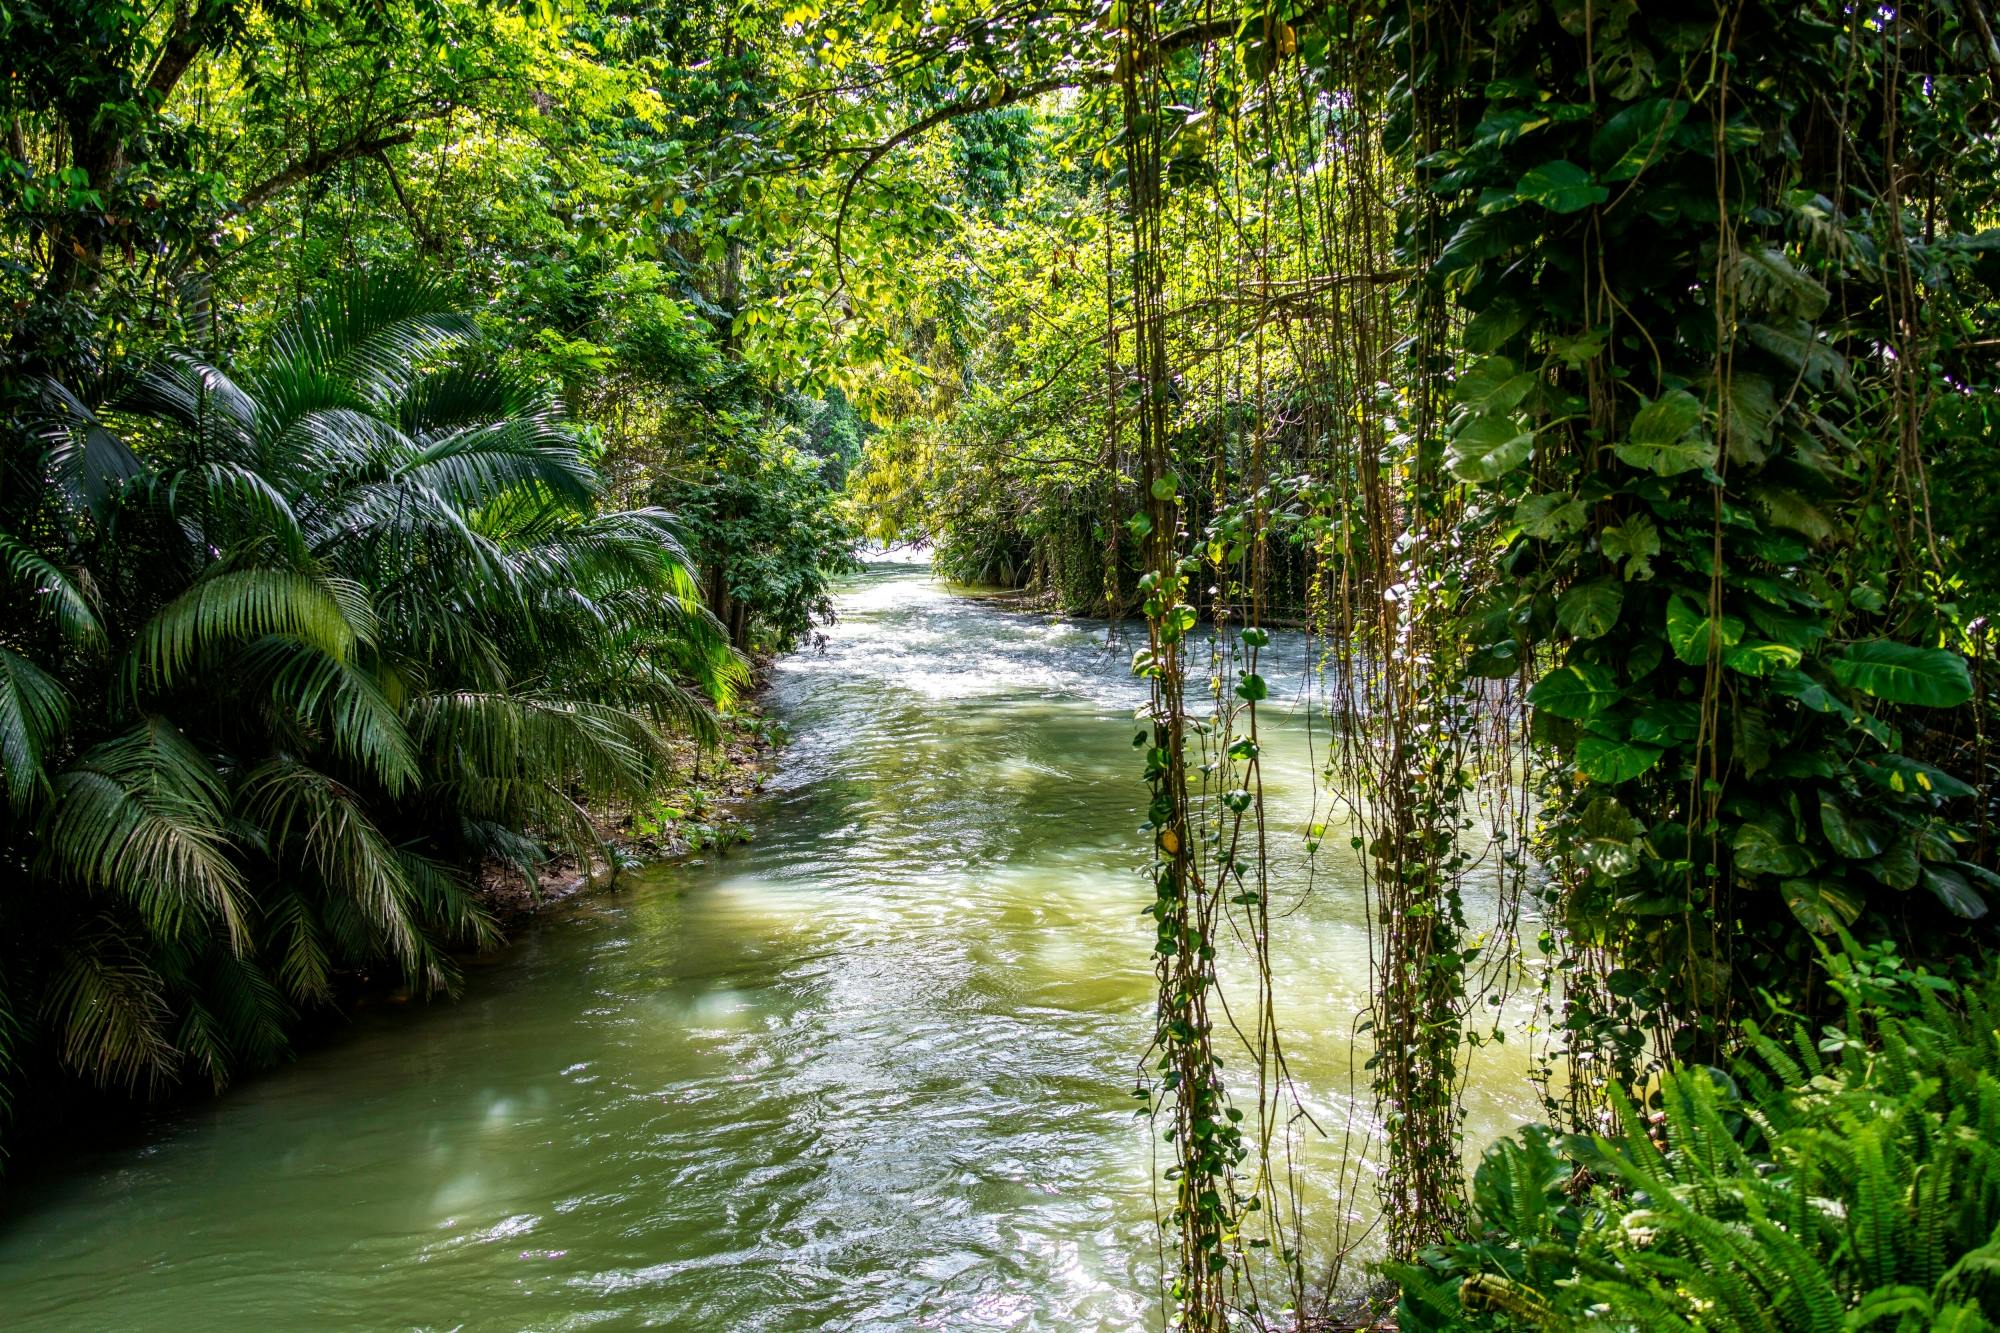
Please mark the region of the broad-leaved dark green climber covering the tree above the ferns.
<svg viewBox="0 0 2000 1333"><path fill-rule="evenodd" d="M1630 0L1412 6L1396 38L1440 88L1392 134L1438 142L1442 466L1500 552L1468 669L1524 687L1544 757L1578 1103L1648 1049L1712 1055L1748 997L1806 999L1812 935L1942 947L2000 883L1950 771L1962 626L1918 558L1928 312L1986 244L1988 196L1918 170L1984 78L1966 38Z"/></svg>

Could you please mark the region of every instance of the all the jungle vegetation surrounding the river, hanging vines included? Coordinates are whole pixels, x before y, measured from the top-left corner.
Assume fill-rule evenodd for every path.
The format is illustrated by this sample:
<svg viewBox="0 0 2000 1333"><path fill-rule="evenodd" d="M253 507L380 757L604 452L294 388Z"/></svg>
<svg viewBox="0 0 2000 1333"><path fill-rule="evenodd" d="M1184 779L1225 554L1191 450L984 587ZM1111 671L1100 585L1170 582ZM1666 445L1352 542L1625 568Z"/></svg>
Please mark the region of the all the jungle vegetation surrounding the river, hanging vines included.
<svg viewBox="0 0 2000 1333"><path fill-rule="evenodd" d="M2000 1321L1984 0L0 38L10 1085L446 985L464 859L644 789L858 522L1136 640L1180 1327L1356 1277L1290 1195L1276 837L1368 869L1404 1327ZM1320 829L1264 823L1276 626ZM1472 1171L1510 997L1548 1123Z"/></svg>

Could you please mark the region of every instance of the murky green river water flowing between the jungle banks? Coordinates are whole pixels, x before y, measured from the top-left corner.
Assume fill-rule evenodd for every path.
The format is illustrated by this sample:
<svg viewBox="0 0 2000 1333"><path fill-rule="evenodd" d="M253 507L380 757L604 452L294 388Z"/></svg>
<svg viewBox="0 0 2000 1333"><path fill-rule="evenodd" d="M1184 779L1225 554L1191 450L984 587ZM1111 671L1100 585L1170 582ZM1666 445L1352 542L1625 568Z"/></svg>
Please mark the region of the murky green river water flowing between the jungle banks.
<svg viewBox="0 0 2000 1333"><path fill-rule="evenodd" d="M1266 785L1308 1231L1368 1131L1354 853L1310 867L1314 759L1278 636ZM1144 805L1128 648L878 562L756 841L628 875L136 1143L16 1163L8 1329L1134 1329L1158 1323ZM1290 675L1290 689L1286 689ZM1320 803L1324 805L1324 803ZM1472 905L1478 919L1490 913ZM1234 1061L1232 1067L1246 1063ZM1480 1053L1472 1137L1534 1117Z"/></svg>

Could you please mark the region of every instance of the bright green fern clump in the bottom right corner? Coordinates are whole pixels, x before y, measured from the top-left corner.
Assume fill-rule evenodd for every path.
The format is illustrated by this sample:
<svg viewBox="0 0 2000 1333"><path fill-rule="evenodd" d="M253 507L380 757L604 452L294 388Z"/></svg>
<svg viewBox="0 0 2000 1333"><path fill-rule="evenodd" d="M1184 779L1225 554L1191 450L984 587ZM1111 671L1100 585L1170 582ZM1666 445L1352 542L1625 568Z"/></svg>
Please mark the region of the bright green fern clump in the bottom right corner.
<svg viewBox="0 0 2000 1333"><path fill-rule="evenodd" d="M1748 1033L1608 1135L1494 1145L1408 1329L2000 1325L2000 983L1834 955L1838 1027Z"/></svg>

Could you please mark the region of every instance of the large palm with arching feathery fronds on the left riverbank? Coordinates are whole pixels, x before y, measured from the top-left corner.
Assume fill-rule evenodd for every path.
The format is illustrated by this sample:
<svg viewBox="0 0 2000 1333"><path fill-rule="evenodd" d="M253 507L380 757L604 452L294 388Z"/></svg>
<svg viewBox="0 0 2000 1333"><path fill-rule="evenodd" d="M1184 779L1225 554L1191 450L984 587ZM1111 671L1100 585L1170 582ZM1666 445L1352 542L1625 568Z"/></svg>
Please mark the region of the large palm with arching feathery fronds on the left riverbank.
<svg viewBox="0 0 2000 1333"><path fill-rule="evenodd" d="M666 514L602 512L422 282L46 402L0 484L0 1107L40 1055L220 1087L342 971L450 991L468 867L590 845L744 679Z"/></svg>

